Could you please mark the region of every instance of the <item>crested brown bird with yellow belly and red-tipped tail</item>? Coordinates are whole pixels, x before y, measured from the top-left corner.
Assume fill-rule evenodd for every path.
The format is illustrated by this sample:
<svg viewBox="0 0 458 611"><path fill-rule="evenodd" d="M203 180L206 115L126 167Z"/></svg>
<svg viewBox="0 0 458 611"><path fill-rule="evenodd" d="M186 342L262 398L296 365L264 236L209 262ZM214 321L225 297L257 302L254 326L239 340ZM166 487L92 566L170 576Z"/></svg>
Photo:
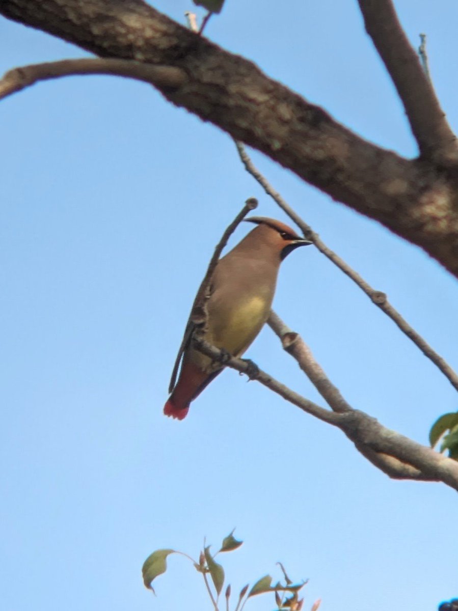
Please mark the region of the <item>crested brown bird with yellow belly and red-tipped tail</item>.
<svg viewBox="0 0 458 611"><path fill-rule="evenodd" d="M296 247L311 244L275 219L252 216L246 221L256 223L257 227L216 265L204 336L216 348L236 357L245 352L267 321L280 263ZM164 406L164 414L178 420L183 420L191 401L223 370L221 363L190 345L191 335L188 324L185 332L188 342L184 342L177 357L179 362L183 356L180 376Z"/></svg>

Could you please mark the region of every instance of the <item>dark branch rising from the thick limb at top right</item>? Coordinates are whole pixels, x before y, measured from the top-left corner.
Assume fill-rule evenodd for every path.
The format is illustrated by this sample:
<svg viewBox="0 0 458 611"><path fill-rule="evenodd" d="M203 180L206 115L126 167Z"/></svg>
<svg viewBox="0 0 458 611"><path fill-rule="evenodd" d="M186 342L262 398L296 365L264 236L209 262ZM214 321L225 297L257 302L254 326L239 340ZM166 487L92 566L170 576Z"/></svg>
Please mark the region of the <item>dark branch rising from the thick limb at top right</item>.
<svg viewBox="0 0 458 611"><path fill-rule="evenodd" d="M456 166L458 145L391 0L358 0L372 38L404 104L421 156Z"/></svg>

